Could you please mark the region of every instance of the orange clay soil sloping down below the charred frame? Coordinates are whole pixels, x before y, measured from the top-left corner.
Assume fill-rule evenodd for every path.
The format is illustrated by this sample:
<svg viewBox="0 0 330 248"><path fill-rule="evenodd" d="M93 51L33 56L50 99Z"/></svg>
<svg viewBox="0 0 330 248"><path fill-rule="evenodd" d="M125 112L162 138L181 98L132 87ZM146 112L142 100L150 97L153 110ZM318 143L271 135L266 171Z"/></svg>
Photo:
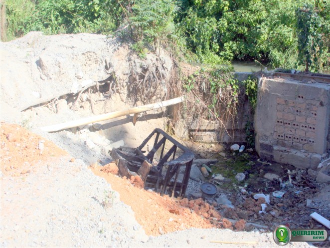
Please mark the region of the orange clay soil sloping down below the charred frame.
<svg viewBox="0 0 330 248"><path fill-rule="evenodd" d="M112 189L119 192L120 200L132 207L136 220L143 226L147 235L158 236L193 227L220 227L216 221L219 221L221 216L213 206L204 203L201 199L177 201L168 196L162 197L155 192L140 188L141 185L134 186L135 182L132 180L108 173L110 170L116 171L115 166L109 164L105 167L107 169L94 164L89 168L95 175L105 178Z"/></svg>

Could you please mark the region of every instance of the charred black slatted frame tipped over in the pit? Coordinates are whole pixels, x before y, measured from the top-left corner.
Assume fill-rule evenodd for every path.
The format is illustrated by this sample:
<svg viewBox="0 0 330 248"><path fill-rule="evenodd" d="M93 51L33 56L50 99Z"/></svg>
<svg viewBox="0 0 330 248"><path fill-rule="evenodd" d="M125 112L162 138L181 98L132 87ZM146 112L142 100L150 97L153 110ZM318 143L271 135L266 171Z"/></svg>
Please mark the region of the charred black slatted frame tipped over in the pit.
<svg viewBox="0 0 330 248"><path fill-rule="evenodd" d="M163 136L161 139L160 135ZM148 154L145 155L146 151L144 151L143 149L145 149L147 143L150 142L154 136L156 136L154 140L154 146L148 152ZM168 142L170 142L172 146L164 154L166 141L167 144ZM119 157L124 158L127 161L129 170L137 172L145 160L148 163L153 164L155 154L160 149L160 160L157 165L151 168L146 180L146 185L152 185L155 191L160 192L161 195L164 195L166 192L166 188L170 187L173 189L171 195L172 197L175 196L175 192L178 192L178 197L183 197L187 189L194 154L188 148L186 148L174 138L165 133L165 131L163 131L162 129L156 128L136 149L129 147L121 147L119 149L113 149L111 154L115 157L113 157L113 159L118 159ZM177 154L177 149L180 149L183 154L175 158L175 155ZM165 177L163 178L162 172L164 166L167 166L168 168ZM182 166L185 167L183 179L182 182L178 182L178 175ZM174 177L174 175L174 181L171 182L171 179Z"/></svg>

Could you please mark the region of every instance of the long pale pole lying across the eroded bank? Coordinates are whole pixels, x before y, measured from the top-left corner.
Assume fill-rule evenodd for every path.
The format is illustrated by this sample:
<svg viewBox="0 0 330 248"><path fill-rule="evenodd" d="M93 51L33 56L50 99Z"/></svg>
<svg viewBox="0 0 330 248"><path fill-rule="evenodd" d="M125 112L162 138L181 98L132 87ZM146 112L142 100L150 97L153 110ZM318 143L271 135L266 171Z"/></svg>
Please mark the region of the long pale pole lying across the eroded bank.
<svg viewBox="0 0 330 248"><path fill-rule="evenodd" d="M56 125L45 126L45 127L41 127L41 130L43 130L45 132L56 132L56 131L68 129L71 127L87 125L87 124L98 122L98 121L104 121L104 120L109 120L109 119L113 119L113 118L117 118L117 117L121 117L121 116L125 116L125 115L136 114L136 113L141 113L141 112L145 112L148 110L159 109L159 108L163 108L163 107L167 107L170 105L180 103L182 101L183 101L183 96L173 98L173 99L163 101L163 102L147 104L147 105L119 110L119 111L115 111L115 112L111 112L111 113L107 113L107 114L91 116L91 117L83 118L80 120L74 120L74 121L69 121L69 122L60 123L60 124L56 124Z"/></svg>

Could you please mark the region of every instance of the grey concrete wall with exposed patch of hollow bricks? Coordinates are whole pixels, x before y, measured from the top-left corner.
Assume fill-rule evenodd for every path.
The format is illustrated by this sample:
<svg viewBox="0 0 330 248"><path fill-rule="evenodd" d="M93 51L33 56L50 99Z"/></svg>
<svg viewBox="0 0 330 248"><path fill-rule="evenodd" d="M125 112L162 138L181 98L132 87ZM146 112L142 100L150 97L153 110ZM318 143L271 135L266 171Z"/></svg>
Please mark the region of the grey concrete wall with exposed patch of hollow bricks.
<svg viewBox="0 0 330 248"><path fill-rule="evenodd" d="M261 158L316 168L330 141L330 85L260 78L254 118Z"/></svg>

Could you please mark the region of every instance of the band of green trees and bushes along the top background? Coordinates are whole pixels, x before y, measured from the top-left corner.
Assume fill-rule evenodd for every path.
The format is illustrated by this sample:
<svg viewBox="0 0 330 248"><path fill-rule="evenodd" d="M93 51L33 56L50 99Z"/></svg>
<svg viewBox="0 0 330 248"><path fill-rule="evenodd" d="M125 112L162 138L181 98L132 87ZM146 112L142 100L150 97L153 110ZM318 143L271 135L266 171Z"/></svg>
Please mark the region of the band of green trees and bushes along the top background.
<svg viewBox="0 0 330 248"><path fill-rule="evenodd" d="M3 4L6 21L1 21L1 30L7 37L1 35L2 40L31 30L109 34L121 26L142 56L147 50L167 47L204 64L239 59L275 67L330 69L327 0L4 0Z"/></svg>

